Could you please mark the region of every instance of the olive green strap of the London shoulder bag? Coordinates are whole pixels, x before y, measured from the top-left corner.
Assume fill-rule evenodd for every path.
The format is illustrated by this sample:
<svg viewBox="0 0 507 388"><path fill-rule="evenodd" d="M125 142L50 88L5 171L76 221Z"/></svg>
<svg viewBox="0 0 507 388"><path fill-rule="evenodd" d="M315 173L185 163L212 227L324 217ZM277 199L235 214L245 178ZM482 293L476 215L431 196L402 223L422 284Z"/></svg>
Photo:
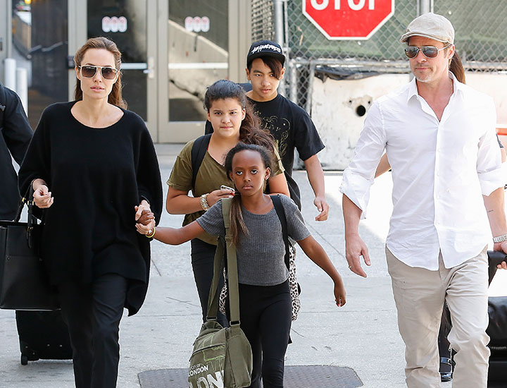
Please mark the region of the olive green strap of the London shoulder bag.
<svg viewBox="0 0 507 388"><path fill-rule="evenodd" d="M224 253L227 253L227 284L229 286L229 308L230 324L239 325L239 284L237 275L237 257L236 247L232 243L232 234L230 232L230 207L232 198L222 199L222 215L225 226L225 238L218 238L218 245L215 250L215 262L213 266L213 281L208 298L208 312L206 320L216 320L218 312L218 297L221 290L218 289L218 283L223 273Z"/></svg>

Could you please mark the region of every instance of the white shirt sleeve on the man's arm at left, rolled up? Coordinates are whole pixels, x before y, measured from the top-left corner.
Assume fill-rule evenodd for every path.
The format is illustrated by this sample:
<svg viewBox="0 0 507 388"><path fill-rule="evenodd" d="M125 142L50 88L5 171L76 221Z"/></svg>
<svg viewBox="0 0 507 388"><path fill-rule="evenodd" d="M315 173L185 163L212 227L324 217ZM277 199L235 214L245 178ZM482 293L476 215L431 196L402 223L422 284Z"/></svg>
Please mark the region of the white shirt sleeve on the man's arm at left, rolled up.
<svg viewBox="0 0 507 388"><path fill-rule="evenodd" d="M352 162L345 169L339 190L359 207L365 217L370 187L386 146L384 117L379 102L368 112L363 131L359 135Z"/></svg>

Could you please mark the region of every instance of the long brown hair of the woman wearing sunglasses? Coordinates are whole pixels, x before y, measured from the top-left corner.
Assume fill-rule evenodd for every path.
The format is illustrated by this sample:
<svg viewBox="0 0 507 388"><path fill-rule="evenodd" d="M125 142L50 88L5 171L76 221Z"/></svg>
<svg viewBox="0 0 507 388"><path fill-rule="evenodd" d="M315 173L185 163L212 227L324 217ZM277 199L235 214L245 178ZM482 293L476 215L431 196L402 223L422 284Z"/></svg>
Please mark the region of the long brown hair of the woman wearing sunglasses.
<svg viewBox="0 0 507 388"><path fill-rule="evenodd" d="M111 54L113 54L115 59L115 68L120 70L121 66L121 53L120 50L118 50L118 47L116 47L115 42L112 40L108 40L106 37L92 37L85 44L83 44L80 49L78 49L74 56L74 63L75 66L81 66L81 62L84 56L84 53L88 49L104 49L109 51ZM113 84L113 89L111 90L111 93L108 95L108 103L116 105L117 107L121 107L123 109L127 109L127 102L125 102L125 99L123 99L122 96L122 74L121 71L118 71L118 79ZM74 99L76 101L79 101L82 99L82 90L81 90L81 81L79 78L76 79L76 87L74 90Z"/></svg>

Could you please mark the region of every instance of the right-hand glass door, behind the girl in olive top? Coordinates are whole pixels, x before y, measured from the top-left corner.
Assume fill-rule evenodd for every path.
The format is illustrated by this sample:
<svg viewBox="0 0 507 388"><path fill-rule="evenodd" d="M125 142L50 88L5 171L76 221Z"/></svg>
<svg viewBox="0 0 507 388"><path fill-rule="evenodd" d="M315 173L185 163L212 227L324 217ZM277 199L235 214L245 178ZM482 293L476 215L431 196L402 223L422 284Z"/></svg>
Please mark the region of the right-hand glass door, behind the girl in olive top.
<svg viewBox="0 0 507 388"><path fill-rule="evenodd" d="M184 143L204 134L206 87L229 77L229 1L161 2L158 139Z"/></svg>

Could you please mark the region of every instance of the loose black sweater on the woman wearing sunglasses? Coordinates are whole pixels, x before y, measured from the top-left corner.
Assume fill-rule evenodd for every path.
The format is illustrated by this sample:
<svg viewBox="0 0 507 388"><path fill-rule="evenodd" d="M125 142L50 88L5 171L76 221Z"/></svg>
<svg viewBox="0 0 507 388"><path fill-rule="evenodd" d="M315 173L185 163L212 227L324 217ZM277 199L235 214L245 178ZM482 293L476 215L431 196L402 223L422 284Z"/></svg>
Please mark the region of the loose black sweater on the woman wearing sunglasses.
<svg viewBox="0 0 507 388"><path fill-rule="evenodd" d="M20 190L35 178L54 203L44 210L42 257L53 284L92 282L101 274L129 281L125 307L141 307L149 279L149 239L137 233L134 206L162 210L161 176L144 121L132 111L106 128L90 128L70 113L75 102L47 107L19 171Z"/></svg>

